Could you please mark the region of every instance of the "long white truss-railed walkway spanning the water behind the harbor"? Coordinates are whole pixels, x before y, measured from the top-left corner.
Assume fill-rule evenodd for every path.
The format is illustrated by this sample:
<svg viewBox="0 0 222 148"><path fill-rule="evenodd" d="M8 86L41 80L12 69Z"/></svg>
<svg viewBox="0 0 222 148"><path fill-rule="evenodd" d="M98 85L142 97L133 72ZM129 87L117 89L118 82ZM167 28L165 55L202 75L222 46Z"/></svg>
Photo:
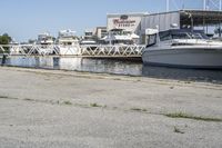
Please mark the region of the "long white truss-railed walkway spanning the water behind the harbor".
<svg viewBox="0 0 222 148"><path fill-rule="evenodd" d="M9 56L82 56L82 57L140 57L145 46L82 45L82 46L0 46L0 53Z"/></svg>

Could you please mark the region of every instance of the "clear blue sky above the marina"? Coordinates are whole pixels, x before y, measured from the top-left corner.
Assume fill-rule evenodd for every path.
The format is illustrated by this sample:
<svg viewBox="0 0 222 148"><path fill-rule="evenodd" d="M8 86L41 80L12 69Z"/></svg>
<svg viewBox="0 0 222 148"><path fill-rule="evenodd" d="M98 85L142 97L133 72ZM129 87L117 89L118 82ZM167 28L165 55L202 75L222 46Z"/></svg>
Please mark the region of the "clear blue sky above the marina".
<svg viewBox="0 0 222 148"><path fill-rule="evenodd" d="M171 10L181 9L183 0L174 0ZM184 0L185 8L201 9L202 0ZM36 39L49 31L53 36L72 29L81 36L85 29L107 26L107 13L162 12L165 0L1 0L0 34L8 32L17 41Z"/></svg>

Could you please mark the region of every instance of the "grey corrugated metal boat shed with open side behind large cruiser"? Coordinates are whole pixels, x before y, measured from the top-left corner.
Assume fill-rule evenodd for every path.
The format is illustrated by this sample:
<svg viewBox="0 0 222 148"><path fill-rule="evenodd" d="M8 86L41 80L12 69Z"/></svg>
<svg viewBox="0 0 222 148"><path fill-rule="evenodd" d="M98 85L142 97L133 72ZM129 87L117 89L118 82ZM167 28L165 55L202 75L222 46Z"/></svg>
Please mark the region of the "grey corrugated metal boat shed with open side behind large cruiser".
<svg viewBox="0 0 222 148"><path fill-rule="evenodd" d="M159 31L169 29L199 29L210 34L210 31L214 30L212 27L221 28L221 22L222 11L179 10L147 14L141 20L141 43L145 43L147 29L158 29Z"/></svg>

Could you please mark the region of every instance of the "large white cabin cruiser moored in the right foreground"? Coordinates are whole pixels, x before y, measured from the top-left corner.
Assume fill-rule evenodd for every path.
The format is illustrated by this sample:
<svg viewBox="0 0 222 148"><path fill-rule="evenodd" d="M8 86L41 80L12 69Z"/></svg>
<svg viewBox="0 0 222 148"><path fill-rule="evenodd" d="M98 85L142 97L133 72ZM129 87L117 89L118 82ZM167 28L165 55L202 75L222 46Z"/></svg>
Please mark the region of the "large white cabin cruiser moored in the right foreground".
<svg viewBox="0 0 222 148"><path fill-rule="evenodd" d="M179 68L222 69L222 42L208 39L203 31L150 29L142 51L144 65Z"/></svg>

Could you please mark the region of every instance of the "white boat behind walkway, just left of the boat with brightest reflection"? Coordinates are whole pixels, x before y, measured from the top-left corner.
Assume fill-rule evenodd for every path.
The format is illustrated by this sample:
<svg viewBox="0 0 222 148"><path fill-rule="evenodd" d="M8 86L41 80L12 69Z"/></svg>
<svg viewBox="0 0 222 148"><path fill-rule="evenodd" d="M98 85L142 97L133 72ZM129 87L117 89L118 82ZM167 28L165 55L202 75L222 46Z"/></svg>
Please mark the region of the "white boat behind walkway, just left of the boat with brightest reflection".
<svg viewBox="0 0 222 148"><path fill-rule="evenodd" d="M54 38L49 32L39 34L37 43L40 45L38 49L40 55L53 53Z"/></svg>

